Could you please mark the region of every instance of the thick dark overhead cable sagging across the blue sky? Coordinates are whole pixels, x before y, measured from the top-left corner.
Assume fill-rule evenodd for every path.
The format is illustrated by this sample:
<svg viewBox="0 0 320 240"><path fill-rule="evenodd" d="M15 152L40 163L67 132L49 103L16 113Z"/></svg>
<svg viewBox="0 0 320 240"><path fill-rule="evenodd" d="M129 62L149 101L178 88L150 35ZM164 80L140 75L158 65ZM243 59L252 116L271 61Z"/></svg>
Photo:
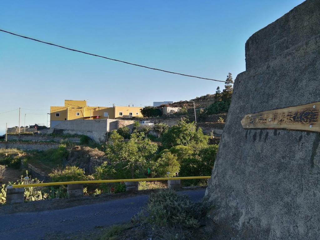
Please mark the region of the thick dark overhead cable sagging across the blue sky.
<svg viewBox="0 0 320 240"><path fill-rule="evenodd" d="M176 72L171 72L171 71L167 71L167 70L163 70L163 69L159 69L159 68L151 68L151 67L143 66L143 65L140 65L140 64L135 64L135 63L131 63L131 62L126 62L126 61L122 61L122 60L117 60L117 59L113 59L113 58L108 58L108 57L100 56L100 55L97 55L97 54L93 54L93 53L89 53L89 52L84 52L84 51L79 51L79 50L76 50L76 49L72 49L72 48L60 46L60 45L57 45L57 44L44 42L44 41L41 41L41 40L38 40L38 39L35 39L35 38L31 38L31 37L27 37L27 36L22 36L22 35L15 34L15 33L12 33L12 32L8 32L8 31L2 30L2 29L0 29L0 31L1 31L1 32L5 32L5 33L12 34L12 35L14 35L14 36L19 36L19 37L23 37L23 38L26 38L26 39L29 39L29 40L33 40L33 41L36 41L36 42L39 42L39 43L44 43L44 44L48 44L48 45L52 45L52 46L64 48L64 49L67 49L67 50L70 50L70 51L80 52L80 53L84 53L84 54L88 54L88 55L91 55L91 56L100 57L100 58L104 58L104 59L108 59L108 60L112 60L112 61L122 62L122 63L125 63L125 64L130 64L130 65L137 66L137 67L141 67L141 68L148 68L148 69L152 69L152 70L157 70L157 71L162 71L162 72L166 72L166 73L177 74L177 75L181 75L181 76L195 77L195 78L200 78L200 79L205 79L205 80L212 80L212 81L216 81L216 82L226 83L226 81L216 80L216 79L212 79L212 78L206 78L206 77L199 77L199 76L192 76L192 75L188 75L188 74L176 73Z"/></svg>

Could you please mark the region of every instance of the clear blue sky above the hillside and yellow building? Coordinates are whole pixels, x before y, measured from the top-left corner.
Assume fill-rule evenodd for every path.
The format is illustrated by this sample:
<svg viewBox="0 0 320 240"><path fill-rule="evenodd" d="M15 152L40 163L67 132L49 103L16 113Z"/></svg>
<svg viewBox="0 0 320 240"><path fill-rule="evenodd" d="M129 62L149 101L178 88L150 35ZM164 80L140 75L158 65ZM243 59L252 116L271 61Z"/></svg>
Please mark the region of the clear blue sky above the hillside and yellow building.
<svg viewBox="0 0 320 240"><path fill-rule="evenodd" d="M225 80L245 70L244 44L301 0L2 1L0 28L110 58ZM70 52L0 32L0 113L46 123L65 99L152 105L214 93L223 83ZM40 114L41 113L41 114ZM42 115L43 113L43 115ZM0 134L18 111L0 114Z"/></svg>

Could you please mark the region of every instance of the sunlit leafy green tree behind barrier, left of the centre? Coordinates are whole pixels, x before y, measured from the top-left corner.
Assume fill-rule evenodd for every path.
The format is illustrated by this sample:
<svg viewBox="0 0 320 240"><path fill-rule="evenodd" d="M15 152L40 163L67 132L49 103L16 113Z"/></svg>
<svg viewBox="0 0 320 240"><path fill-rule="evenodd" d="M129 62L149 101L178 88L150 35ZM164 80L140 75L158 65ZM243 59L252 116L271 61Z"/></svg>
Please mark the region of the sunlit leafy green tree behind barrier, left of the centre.
<svg viewBox="0 0 320 240"><path fill-rule="evenodd" d="M133 133L129 141L124 141L116 131L110 136L111 144L106 146L109 162L96 167L96 178L135 178L142 176L149 165L157 146L143 133Z"/></svg>

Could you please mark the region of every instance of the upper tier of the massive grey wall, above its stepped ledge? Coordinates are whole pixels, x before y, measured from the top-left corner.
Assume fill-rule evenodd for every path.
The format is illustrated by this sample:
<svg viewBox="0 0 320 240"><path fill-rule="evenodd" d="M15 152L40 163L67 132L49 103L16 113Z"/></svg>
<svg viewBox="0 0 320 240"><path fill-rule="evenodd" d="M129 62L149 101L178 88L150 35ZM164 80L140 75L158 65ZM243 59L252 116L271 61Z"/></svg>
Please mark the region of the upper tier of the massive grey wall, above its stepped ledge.
<svg viewBox="0 0 320 240"><path fill-rule="evenodd" d="M320 34L320 2L308 0L253 34L245 44L246 69Z"/></svg>

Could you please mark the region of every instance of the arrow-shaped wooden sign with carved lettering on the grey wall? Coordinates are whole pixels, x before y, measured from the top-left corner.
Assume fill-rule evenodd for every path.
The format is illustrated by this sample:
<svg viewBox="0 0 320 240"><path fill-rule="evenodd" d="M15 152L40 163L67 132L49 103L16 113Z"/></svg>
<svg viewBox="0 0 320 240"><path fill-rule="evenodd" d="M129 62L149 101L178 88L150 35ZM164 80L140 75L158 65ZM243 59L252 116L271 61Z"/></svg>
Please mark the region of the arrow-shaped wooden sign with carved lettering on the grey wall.
<svg viewBox="0 0 320 240"><path fill-rule="evenodd" d="M320 102L250 113L241 120L244 129L292 129L320 132Z"/></svg>

